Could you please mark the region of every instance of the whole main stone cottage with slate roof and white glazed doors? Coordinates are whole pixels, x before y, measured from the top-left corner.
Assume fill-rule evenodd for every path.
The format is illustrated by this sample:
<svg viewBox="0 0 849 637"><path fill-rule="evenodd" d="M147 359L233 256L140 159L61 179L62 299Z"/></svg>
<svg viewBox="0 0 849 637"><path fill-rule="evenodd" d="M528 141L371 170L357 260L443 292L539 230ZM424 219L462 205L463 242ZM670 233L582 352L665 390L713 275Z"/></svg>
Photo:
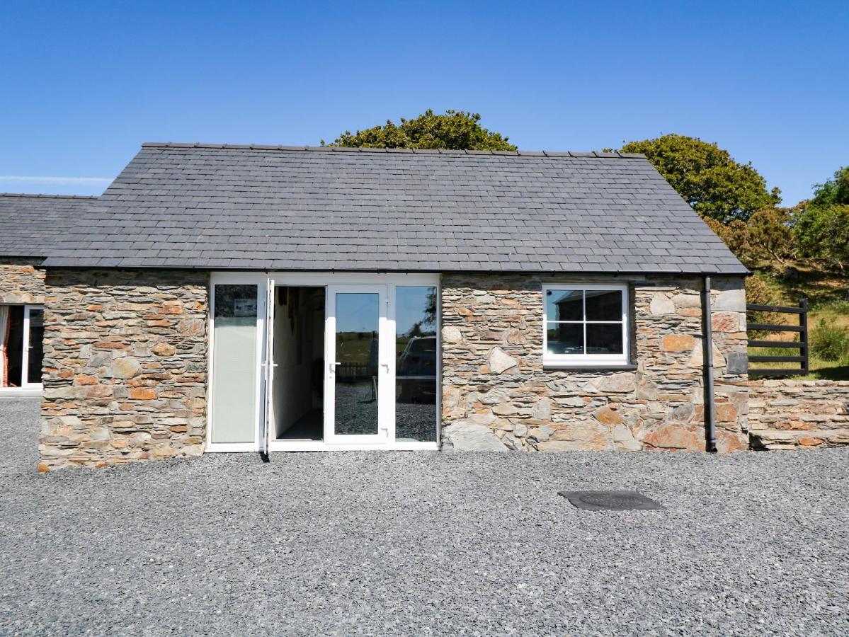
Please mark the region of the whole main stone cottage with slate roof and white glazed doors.
<svg viewBox="0 0 849 637"><path fill-rule="evenodd" d="M147 143L84 208L27 255L42 471L748 447L745 267L642 155Z"/></svg>

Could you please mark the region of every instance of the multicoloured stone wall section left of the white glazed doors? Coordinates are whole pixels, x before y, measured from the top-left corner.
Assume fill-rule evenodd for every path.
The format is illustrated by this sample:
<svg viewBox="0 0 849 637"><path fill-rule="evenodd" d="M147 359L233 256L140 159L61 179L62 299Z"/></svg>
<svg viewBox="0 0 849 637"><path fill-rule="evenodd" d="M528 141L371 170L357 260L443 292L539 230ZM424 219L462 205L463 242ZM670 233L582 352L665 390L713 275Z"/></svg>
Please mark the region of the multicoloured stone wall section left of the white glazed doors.
<svg viewBox="0 0 849 637"><path fill-rule="evenodd" d="M39 471L200 455L208 275L49 271Z"/></svg>

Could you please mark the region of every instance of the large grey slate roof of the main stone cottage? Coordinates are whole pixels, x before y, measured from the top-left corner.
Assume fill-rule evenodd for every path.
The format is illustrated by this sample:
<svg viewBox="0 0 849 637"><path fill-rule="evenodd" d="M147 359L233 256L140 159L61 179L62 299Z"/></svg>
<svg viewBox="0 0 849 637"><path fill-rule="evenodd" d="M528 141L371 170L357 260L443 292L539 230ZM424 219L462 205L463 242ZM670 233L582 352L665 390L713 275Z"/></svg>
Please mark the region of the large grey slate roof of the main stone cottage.
<svg viewBox="0 0 849 637"><path fill-rule="evenodd" d="M642 155L146 143L47 265L745 267Z"/></svg>

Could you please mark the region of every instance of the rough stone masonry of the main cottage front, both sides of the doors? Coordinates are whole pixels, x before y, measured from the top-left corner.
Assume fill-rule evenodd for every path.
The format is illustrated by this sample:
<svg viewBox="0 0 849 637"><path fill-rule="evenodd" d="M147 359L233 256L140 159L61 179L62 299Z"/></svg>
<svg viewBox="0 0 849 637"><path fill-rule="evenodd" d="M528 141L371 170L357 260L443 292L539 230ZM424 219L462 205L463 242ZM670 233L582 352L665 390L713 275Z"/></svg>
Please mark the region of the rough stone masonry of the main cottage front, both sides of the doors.
<svg viewBox="0 0 849 637"><path fill-rule="evenodd" d="M445 448L704 450L700 279L616 277L634 368L579 372L543 368L543 280L569 282L443 277ZM743 280L714 285L717 442L745 449ZM208 275L60 269L46 289L39 469L200 455Z"/></svg>

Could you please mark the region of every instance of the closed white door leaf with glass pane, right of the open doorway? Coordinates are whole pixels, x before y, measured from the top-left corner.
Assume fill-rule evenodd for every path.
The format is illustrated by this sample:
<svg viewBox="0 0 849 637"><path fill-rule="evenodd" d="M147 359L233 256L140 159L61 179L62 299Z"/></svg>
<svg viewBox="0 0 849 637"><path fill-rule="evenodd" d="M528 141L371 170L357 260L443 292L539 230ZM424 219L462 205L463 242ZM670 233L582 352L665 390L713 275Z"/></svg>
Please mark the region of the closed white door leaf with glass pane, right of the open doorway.
<svg viewBox="0 0 849 637"><path fill-rule="evenodd" d="M324 440L374 444L394 439L392 338L385 285L329 285Z"/></svg>

